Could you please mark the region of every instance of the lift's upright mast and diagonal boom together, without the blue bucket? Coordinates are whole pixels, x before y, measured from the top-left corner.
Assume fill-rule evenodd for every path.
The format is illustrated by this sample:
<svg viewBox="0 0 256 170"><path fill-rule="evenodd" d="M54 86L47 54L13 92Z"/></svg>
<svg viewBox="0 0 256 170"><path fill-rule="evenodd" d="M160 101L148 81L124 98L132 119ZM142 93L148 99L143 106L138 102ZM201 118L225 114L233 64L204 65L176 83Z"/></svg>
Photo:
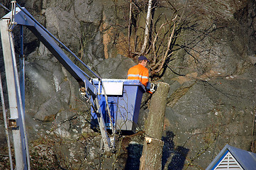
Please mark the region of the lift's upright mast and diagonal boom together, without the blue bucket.
<svg viewBox="0 0 256 170"><path fill-rule="evenodd" d="M6 81L8 86L10 114L9 127L12 127L13 142L16 156L16 169L30 169L29 152L28 152L28 140L26 137L26 125L25 125L25 73L24 73L24 55L23 55L23 26L26 26L31 32L43 42L45 47L50 50L57 60L67 69L67 71L76 79L80 85L84 83L84 91L86 97L90 98L91 105L98 115L99 125L101 129L101 135L104 142L104 150L106 152L113 149L111 146L110 138L106 132L106 125L99 106L98 94L96 87L90 83L88 79L91 79L85 72L82 71L76 64L74 64L69 57L62 51L57 45L62 45L67 52L73 57L79 58L62 44L57 38L49 33L33 16L28 13L26 8L22 8L16 1L12 1L11 12L6 14L0 21L1 40L3 45L4 63L6 68ZM16 7L18 6L18 7ZM13 45L12 30L15 26L21 26L21 55L20 55L20 79L18 79L18 71L16 66L16 57ZM82 62L79 60L79 62ZM97 76L89 67L82 62L82 64L94 74L99 80L101 77ZM109 110L109 108L108 108ZM114 128L112 128L113 131Z"/></svg>

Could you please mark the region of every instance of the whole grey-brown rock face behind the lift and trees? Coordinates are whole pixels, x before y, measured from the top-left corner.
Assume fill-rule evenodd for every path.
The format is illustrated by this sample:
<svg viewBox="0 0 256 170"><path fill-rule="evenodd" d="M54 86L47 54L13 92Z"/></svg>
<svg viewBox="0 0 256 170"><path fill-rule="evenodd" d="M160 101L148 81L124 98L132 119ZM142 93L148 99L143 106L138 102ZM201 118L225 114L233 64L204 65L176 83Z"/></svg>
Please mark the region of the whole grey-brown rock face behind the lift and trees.
<svg viewBox="0 0 256 170"><path fill-rule="evenodd" d="M158 80L171 86L162 137L165 169L206 169L226 144L255 152L252 146L255 144L256 1L187 3L192 5L185 12L188 27L182 30L184 35L178 36L180 49L174 52L174 60ZM135 64L126 57L124 43L129 2L43 0L20 4L99 76L126 79L128 68ZM172 4L180 7L184 1ZM10 8L7 2L4 5ZM155 13L165 10L162 5ZM1 16L4 13L1 8ZM18 33L18 29L13 32ZM89 128L89 106L79 98L77 81L29 30L25 34L26 121L35 169L40 165L34 164L34 158L46 155L48 166L59 168L129 169L128 165L132 165L130 169L138 169L143 135L123 138L120 152L102 159L98 152L100 137ZM0 64L3 72L3 62ZM147 95L138 123L142 129L148 113L146 101ZM4 147L2 118L0 122L0 144ZM135 153L132 148L139 149ZM109 162L116 163L113 166ZM0 162L1 165L6 163Z"/></svg>

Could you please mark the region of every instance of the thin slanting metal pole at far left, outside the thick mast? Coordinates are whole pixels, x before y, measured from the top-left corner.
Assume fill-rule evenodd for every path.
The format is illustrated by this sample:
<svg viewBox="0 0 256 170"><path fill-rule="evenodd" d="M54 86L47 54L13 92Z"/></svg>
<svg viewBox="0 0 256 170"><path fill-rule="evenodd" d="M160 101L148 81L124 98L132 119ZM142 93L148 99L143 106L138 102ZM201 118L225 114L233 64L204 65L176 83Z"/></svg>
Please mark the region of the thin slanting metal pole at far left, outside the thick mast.
<svg viewBox="0 0 256 170"><path fill-rule="evenodd" d="M4 104L4 93L3 93L3 86L1 82L1 73L0 73L0 93L1 93L1 103L2 103L2 109L3 109L3 115L4 115L4 127L6 128L6 140L7 140L8 151L9 151L10 168L11 170L13 170L13 159L11 158L11 144L10 144L10 137L8 132L8 125L7 125L6 106Z"/></svg>

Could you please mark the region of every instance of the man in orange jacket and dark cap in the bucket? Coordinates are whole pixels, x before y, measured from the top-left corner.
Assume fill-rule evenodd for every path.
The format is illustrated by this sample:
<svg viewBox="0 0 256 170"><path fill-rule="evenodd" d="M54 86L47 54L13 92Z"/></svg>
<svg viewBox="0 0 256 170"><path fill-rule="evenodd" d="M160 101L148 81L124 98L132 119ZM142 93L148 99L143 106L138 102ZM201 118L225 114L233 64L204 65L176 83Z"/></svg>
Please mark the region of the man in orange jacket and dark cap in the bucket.
<svg viewBox="0 0 256 170"><path fill-rule="evenodd" d="M150 93L150 82L148 82L148 69L146 68L148 64L148 59L145 56L138 57L138 64L130 67L127 74L127 79L138 79L145 86L147 92ZM150 93L152 94L152 93Z"/></svg>

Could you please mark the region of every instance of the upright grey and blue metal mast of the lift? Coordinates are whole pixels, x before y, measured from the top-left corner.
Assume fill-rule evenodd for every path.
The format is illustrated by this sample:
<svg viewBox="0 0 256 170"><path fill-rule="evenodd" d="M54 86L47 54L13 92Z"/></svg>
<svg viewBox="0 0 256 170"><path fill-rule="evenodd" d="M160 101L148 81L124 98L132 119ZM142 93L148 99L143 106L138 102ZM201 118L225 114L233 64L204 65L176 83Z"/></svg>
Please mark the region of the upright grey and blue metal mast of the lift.
<svg viewBox="0 0 256 170"><path fill-rule="evenodd" d="M16 169L30 169L28 140L26 135L25 116L21 101L21 89L18 81L18 70L13 44L13 35L9 31L9 20L0 21L1 41L4 53L4 65L11 120L16 124L12 128L13 145L16 157Z"/></svg>

